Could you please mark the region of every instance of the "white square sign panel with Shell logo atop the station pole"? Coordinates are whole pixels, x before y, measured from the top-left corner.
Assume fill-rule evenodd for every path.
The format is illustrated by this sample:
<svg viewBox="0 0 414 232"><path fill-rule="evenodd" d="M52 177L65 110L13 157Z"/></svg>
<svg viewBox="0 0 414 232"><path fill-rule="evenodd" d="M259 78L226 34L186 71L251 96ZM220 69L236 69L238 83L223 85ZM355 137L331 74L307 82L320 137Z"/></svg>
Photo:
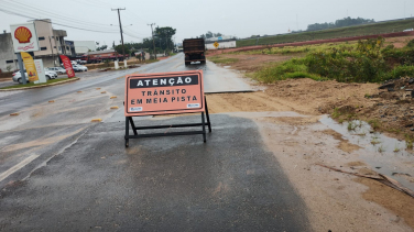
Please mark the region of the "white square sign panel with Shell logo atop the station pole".
<svg viewBox="0 0 414 232"><path fill-rule="evenodd" d="M10 25L15 53L39 51L39 38L34 23Z"/></svg>

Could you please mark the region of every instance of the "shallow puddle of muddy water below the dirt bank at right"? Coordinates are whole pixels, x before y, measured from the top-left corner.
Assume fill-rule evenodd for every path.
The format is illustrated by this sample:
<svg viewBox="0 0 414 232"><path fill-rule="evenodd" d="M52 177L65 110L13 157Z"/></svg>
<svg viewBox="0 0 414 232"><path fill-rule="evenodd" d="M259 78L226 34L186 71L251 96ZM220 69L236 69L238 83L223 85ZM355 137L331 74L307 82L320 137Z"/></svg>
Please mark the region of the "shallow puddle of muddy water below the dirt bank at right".
<svg viewBox="0 0 414 232"><path fill-rule="evenodd" d="M373 170L390 176L414 190L414 183L404 177L393 175L400 173L414 177L413 168L407 165L414 162L414 154L406 151L405 141L399 141L378 132L371 133L370 124L359 120L337 123L326 115L319 121L340 133L350 143L361 146L362 148L357 151L357 153Z"/></svg>

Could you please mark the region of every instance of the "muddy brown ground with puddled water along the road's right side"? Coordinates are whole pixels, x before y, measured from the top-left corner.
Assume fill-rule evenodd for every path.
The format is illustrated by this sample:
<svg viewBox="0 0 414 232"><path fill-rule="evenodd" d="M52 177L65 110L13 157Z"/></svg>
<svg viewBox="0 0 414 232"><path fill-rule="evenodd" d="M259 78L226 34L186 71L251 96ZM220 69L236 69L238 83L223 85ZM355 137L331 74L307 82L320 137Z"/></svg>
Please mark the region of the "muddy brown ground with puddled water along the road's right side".
<svg viewBox="0 0 414 232"><path fill-rule="evenodd" d="M402 47L412 38L389 38L386 42ZM237 58L238 62L227 65L226 68L242 74L255 71L269 63L284 62L293 57L238 54L220 56ZM414 137L414 100L411 91L406 91L414 89L411 79L406 77L393 80L389 82L390 86L379 89L379 84L344 84L312 79L288 79L274 85L261 85L246 77L247 81L261 87L262 90L208 95L207 100L211 113L239 115L240 112L246 112L244 117L251 117L258 122L263 137L266 137L264 143L277 156L309 207L315 231L412 231L412 197L375 180L356 178L316 165L322 163L342 170L373 176L378 172L388 172L389 176L412 188L414 154L408 144L410 137ZM271 113L283 114L286 111L306 117L274 118ZM345 133L349 133L349 136L330 128L315 128L315 123L320 121L324 114L335 119L339 123L337 126L345 128ZM363 134L352 126L348 126L350 130L347 131L347 125L359 122L353 120L370 122L371 128ZM272 130L274 125L277 125L277 130ZM280 126L284 130L281 131ZM397 140L388 144L385 142L388 147L372 142L382 137L382 134ZM357 139L350 142L350 137ZM362 142L356 144L356 141L360 140L364 140L372 147ZM404 143L404 140L408 143ZM356 192L361 195L355 195ZM361 201L360 197L364 201ZM355 213L358 217L355 217ZM337 221L338 227L327 228L324 221ZM349 227L344 228L344 224ZM361 227L362 224L364 225Z"/></svg>

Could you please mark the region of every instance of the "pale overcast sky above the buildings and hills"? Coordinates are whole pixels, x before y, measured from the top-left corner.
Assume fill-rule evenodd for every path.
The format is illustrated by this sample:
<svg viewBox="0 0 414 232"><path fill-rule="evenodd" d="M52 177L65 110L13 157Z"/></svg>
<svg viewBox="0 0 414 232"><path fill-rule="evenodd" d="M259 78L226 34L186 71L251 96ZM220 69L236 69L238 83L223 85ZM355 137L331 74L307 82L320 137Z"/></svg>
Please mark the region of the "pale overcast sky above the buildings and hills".
<svg viewBox="0 0 414 232"><path fill-rule="evenodd" d="M129 34L124 34L124 42L140 42L151 36L149 23L176 29L175 42L181 42L207 31L238 37L286 33L290 29L306 30L308 24L335 22L348 15L375 21L402 19L404 3L405 16L413 15L414 0L0 0L0 10L108 32L53 24L54 29L66 30L66 40L111 45L112 41L120 42L118 13L111 8L126 8L120 11ZM0 11L0 30L10 32L10 24L28 20Z"/></svg>

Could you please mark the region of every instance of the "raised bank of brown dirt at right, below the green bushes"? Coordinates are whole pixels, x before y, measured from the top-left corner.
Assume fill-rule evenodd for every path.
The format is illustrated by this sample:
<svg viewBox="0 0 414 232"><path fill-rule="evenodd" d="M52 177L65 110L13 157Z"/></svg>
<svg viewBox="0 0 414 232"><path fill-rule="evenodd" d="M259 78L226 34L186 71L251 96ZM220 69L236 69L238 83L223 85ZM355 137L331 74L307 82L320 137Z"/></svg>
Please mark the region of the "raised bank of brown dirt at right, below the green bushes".
<svg viewBox="0 0 414 232"><path fill-rule="evenodd" d="M304 108L313 108L313 113L333 114L340 121L361 119L375 122L375 130L403 139L404 134L414 133L414 100L411 91L414 80L401 78L385 85L393 88L384 89L377 84L298 79L280 81L266 92Z"/></svg>

